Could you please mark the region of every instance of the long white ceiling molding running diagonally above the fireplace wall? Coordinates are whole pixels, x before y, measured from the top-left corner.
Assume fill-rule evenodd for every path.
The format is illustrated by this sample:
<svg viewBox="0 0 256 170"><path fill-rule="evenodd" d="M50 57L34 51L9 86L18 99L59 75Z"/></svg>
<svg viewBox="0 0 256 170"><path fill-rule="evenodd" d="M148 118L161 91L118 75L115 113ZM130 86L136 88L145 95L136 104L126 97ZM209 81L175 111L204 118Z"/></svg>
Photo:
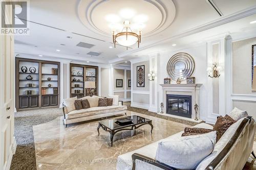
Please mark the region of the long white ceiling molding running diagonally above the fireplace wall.
<svg viewBox="0 0 256 170"><path fill-rule="evenodd" d="M211 28L215 28L215 27L221 26L225 23L228 23L228 22L231 22L231 21L234 21L234 20L238 20L238 19L250 16L250 15L253 15L253 14L256 14L256 5L254 5L250 8L246 8L244 10L238 11L236 13L230 14L230 15L220 17L219 19L216 19L214 21L207 22L204 25L201 25L201 26L195 27L193 29L187 30L187 31L185 31L181 34L177 34L177 35L174 35L174 36L171 36L171 37L168 37L168 38L164 38L160 41L157 41L155 43L152 43L152 44L149 44L149 45L146 45L146 46L142 46L140 48L137 48L135 50L131 50L129 52L121 53L117 56L119 58L125 57L127 55L131 55L131 54L140 52L142 50L146 50L146 49L154 47L156 45L160 45L160 44L166 43L168 41L172 41L172 40L175 40L175 39L178 39L178 38L183 38L183 37L186 37L186 36L189 36L189 35L193 35L193 34L211 29Z"/></svg>

